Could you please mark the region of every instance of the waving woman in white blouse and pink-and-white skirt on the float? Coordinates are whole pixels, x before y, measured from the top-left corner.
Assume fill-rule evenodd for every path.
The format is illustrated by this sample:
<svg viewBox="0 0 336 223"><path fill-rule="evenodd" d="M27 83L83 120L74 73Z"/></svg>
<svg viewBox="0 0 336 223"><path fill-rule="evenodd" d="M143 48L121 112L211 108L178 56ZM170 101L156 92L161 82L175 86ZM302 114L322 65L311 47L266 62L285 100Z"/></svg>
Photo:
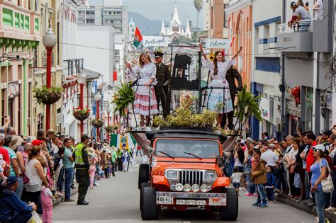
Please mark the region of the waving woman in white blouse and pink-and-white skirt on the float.
<svg viewBox="0 0 336 223"><path fill-rule="evenodd" d="M128 62L125 63L125 66L130 70L131 79L136 79L139 74L139 86L135 92L134 113L140 114L141 126L145 126L146 117L146 125L148 126L150 124L150 115L159 113L154 87L150 86L157 82L155 78L157 67L145 52L140 55L139 66L131 67Z"/></svg>

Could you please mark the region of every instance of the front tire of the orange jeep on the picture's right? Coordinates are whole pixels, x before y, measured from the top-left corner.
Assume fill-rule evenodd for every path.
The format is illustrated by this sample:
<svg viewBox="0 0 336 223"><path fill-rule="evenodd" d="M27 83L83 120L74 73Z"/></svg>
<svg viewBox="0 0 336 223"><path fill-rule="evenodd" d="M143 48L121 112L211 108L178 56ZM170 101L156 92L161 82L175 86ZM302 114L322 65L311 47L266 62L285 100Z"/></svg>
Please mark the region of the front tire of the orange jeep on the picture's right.
<svg viewBox="0 0 336 223"><path fill-rule="evenodd" d="M219 217L222 221L235 221L238 217L238 195L235 188L224 188L226 206L220 207Z"/></svg>

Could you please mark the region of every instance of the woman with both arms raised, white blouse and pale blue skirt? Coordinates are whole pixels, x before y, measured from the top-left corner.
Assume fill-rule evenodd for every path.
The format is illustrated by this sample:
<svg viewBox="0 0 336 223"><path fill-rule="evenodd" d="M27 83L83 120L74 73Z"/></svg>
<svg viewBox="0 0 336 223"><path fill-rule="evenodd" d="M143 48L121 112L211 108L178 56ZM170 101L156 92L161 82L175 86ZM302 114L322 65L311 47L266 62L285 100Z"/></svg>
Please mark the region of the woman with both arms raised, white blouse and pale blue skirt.
<svg viewBox="0 0 336 223"><path fill-rule="evenodd" d="M226 72L233 64L233 59L237 57L237 55L242 50L242 47L240 47L238 52L236 52L235 55L231 57L231 59L228 59L227 62L224 62L224 55L221 51L215 52L215 58L213 59L213 62L211 62L211 60L208 59L206 54L203 52L202 45L199 45L199 49L203 55L203 67L207 67L211 72L211 82L208 85L208 88L213 87L213 89L209 90L209 96L207 99L208 109L215 110L218 113L217 125L220 125L222 122L223 113L230 113L233 111L233 103L231 101L229 84L225 79L225 76ZM224 108L218 108L220 103L224 103Z"/></svg>

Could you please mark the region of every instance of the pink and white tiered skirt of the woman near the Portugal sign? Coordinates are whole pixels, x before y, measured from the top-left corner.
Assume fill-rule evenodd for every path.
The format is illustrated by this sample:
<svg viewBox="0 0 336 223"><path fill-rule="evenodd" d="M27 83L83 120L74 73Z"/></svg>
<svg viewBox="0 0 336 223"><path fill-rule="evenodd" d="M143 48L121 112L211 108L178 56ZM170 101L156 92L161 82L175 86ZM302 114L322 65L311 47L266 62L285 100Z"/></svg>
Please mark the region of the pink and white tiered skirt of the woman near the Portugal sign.
<svg viewBox="0 0 336 223"><path fill-rule="evenodd" d="M150 96L141 92L135 93L134 113L140 115L156 115L159 113L157 108L157 98L155 96L154 87L151 87Z"/></svg>

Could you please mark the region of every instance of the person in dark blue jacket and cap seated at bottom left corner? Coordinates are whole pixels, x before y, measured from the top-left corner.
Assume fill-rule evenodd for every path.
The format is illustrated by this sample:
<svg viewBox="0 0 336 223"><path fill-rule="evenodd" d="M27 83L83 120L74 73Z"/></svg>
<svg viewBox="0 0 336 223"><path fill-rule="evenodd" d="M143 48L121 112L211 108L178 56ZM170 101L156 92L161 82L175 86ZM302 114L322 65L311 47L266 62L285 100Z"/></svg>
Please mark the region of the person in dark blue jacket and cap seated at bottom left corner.
<svg viewBox="0 0 336 223"><path fill-rule="evenodd" d="M28 205L16 195L15 190L18 187L18 178L9 176L6 181L6 187L2 192L0 200L0 221L26 223L32 217L33 210L36 210L36 205Z"/></svg>

